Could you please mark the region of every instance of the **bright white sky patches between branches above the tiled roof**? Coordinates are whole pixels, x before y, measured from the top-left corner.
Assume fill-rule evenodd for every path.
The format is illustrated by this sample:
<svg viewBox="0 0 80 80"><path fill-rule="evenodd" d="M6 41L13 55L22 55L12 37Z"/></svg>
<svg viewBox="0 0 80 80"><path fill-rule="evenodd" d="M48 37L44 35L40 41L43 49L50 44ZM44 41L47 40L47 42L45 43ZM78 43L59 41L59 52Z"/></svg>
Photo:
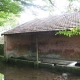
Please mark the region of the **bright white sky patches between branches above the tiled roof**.
<svg viewBox="0 0 80 80"><path fill-rule="evenodd" d="M45 3L42 0L35 0L35 2L37 5L45 5ZM55 0L55 5L56 7L54 7L54 13L55 14L61 14L62 12L65 12L65 8L68 5L68 1L67 0ZM41 11L41 10L36 10L39 14L36 18L45 18L49 16L49 12L48 11ZM35 16L32 15L30 13L30 11L25 11L21 14L21 17L19 19L19 24L25 23L27 21L33 20L35 19Z"/></svg>

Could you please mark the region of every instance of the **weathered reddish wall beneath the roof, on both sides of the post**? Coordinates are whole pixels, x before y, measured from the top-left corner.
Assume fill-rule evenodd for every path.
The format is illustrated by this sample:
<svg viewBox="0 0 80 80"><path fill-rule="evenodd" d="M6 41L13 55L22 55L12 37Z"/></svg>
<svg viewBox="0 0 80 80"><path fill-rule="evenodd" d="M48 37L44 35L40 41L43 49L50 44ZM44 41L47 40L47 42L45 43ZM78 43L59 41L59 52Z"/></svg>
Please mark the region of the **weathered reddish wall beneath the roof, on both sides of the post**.
<svg viewBox="0 0 80 80"><path fill-rule="evenodd" d="M36 35L20 34L5 36L6 56L29 58L36 55ZM39 57L80 59L80 36L55 36L53 33L38 34Z"/></svg>

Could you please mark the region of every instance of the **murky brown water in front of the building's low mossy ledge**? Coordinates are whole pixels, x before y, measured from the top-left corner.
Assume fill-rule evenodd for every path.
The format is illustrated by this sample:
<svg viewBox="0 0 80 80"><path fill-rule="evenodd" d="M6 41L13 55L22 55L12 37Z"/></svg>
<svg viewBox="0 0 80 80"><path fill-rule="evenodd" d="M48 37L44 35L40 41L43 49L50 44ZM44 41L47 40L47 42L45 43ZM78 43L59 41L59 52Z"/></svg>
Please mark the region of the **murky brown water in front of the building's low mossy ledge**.
<svg viewBox="0 0 80 80"><path fill-rule="evenodd" d="M54 80L61 75L62 73L56 74L46 69L0 63L0 80ZM69 75L67 80L80 80L80 77Z"/></svg>

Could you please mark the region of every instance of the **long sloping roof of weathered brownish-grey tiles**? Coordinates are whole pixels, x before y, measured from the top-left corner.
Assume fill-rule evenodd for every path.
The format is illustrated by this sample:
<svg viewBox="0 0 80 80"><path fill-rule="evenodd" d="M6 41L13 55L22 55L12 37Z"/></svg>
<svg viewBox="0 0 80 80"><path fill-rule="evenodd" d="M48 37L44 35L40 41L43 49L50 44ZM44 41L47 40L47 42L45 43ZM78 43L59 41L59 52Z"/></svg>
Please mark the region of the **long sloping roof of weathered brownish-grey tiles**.
<svg viewBox="0 0 80 80"><path fill-rule="evenodd" d="M56 31L73 28L75 26L80 27L80 12L65 13L44 19L36 19L17 26L3 34Z"/></svg>

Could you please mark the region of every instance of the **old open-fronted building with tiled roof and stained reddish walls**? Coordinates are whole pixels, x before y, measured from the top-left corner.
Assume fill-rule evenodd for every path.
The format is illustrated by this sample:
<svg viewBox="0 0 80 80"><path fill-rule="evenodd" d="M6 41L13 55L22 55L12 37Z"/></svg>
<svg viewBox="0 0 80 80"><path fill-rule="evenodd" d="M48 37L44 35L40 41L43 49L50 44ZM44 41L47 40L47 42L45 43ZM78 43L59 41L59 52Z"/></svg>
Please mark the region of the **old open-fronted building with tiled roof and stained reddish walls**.
<svg viewBox="0 0 80 80"><path fill-rule="evenodd" d="M26 22L4 35L4 55L26 60L80 59L80 35L56 35L59 30L80 27L80 12Z"/></svg>

